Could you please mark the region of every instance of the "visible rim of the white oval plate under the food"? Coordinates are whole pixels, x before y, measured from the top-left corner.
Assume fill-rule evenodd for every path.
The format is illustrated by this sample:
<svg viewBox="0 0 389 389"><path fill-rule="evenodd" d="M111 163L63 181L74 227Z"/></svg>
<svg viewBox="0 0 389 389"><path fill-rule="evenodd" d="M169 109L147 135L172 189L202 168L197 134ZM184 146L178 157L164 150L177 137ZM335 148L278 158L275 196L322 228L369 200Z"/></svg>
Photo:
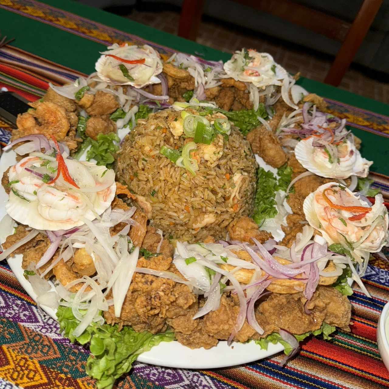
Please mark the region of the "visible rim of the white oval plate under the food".
<svg viewBox="0 0 389 389"><path fill-rule="evenodd" d="M16 163L16 153L14 151L3 152L0 159L0 179L7 168ZM5 215L5 203L8 201L8 195L4 188L0 186L0 220ZM0 231L1 233L1 231ZM18 255L8 259L8 264L14 272L21 286L36 301L36 294L33 292L30 282L23 277L22 256ZM52 308L42 305L42 309L53 319L56 319L55 311ZM268 345L267 350L262 350L255 342L233 343L231 347L226 341L220 341L217 346L209 350L204 348L189 349L177 341L162 342L153 347L150 351L144 352L138 356L137 361L150 363L160 366L168 366L184 369L214 369L227 366L234 366L242 363L257 361L277 354L284 350L280 343Z"/></svg>

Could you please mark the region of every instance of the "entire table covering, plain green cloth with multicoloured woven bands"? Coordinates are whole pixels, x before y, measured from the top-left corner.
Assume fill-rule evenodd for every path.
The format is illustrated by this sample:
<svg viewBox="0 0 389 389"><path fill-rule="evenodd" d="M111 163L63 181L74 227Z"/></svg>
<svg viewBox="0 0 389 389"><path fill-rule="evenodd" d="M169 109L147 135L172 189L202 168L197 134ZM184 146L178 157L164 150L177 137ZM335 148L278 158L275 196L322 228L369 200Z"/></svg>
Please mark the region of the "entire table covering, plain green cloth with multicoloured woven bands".
<svg viewBox="0 0 389 389"><path fill-rule="evenodd" d="M12 44L14 48L0 50L0 86L11 86L31 100L43 95L50 79L65 82L80 72L93 72L98 51L113 42L149 40L165 53L179 50L210 60L230 57L230 54L67 0L0 0L0 29L3 34L16 37ZM40 76L34 78L37 73ZM352 123L354 133L363 141L363 156L375 161L372 166L377 172L375 184L387 194L387 180L382 174L389 175L389 106L320 82L301 79L300 83L309 91L324 96L331 112ZM4 142L1 127L0 123L0 142ZM371 261L365 284L372 298L366 298L357 286L350 297L352 332L338 331L330 342L322 338L307 340L300 354L285 368L280 366L280 355L244 366L203 371L136 363L131 374L123 378L118 387L389 387L389 373L380 359L375 338L378 315L389 290L389 266L385 261L378 257ZM70 345L61 337L58 324L39 312L9 267L2 263L0 389L92 388L94 382L84 371L87 356L88 350Z"/></svg>

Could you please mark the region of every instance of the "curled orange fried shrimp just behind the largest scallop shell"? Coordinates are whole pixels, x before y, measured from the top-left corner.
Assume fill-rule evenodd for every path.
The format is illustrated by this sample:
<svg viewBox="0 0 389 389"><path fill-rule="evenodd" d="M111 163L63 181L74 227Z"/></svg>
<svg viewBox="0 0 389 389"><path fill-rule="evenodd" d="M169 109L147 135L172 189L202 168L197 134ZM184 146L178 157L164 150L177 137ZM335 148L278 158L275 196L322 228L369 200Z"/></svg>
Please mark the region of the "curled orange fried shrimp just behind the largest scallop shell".
<svg viewBox="0 0 389 389"><path fill-rule="evenodd" d="M11 140L32 134L43 134L46 137L54 135L57 140L65 139L70 128L65 108L50 102L33 102L29 105L35 109L18 115L18 130L12 131Z"/></svg>

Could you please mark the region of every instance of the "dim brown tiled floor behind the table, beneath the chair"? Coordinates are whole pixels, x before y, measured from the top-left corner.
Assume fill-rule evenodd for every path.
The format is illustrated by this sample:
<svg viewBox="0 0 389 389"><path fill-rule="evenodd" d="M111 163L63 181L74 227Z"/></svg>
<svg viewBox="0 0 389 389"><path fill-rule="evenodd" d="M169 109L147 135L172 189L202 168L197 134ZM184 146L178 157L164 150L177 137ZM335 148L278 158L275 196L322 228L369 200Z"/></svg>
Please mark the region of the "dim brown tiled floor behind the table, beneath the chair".
<svg viewBox="0 0 389 389"><path fill-rule="evenodd" d="M134 10L128 18L139 23L158 28L165 32L177 34L179 13L174 11L140 12ZM202 21L197 42L226 52L233 52L242 47L252 47L258 51L268 52L275 61L292 73L298 71L305 77L323 81L331 65L331 58L324 54L307 53L307 50L291 47L283 42L272 43L258 38L258 35L242 33L242 29L231 31L229 28L212 21ZM367 77L363 71L350 68L343 77L340 88L352 93L389 103L389 84Z"/></svg>

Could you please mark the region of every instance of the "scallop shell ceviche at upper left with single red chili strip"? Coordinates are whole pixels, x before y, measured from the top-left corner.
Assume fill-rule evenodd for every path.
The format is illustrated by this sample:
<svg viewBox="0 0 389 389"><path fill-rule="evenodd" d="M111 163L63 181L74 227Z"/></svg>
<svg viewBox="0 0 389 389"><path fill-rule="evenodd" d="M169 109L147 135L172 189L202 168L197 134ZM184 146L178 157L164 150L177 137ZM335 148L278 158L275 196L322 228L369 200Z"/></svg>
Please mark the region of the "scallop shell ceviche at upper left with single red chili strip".
<svg viewBox="0 0 389 389"><path fill-rule="evenodd" d="M161 82L157 77L162 72L161 58L151 46L119 46L115 43L107 48L101 52L102 56L95 65L102 81L135 88Z"/></svg>

